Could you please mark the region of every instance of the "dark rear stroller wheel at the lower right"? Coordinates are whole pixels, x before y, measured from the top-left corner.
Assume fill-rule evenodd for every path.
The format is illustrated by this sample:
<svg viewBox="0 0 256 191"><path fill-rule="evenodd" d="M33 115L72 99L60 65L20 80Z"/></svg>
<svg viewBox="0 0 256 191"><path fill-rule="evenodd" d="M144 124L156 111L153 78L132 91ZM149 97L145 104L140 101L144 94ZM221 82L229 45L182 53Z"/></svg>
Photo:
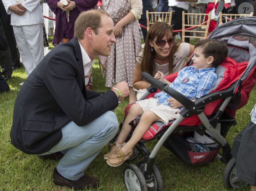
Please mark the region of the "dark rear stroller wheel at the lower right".
<svg viewBox="0 0 256 191"><path fill-rule="evenodd" d="M236 161L236 158L231 158L223 172L223 182L229 189L238 189L247 185L247 183L237 177Z"/></svg>

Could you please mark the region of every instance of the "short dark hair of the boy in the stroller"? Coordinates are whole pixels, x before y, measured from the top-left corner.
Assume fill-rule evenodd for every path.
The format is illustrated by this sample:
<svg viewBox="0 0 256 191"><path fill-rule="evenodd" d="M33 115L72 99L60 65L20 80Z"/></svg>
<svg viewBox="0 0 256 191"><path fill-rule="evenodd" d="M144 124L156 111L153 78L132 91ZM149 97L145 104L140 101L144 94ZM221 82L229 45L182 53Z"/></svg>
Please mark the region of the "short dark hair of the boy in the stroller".
<svg viewBox="0 0 256 191"><path fill-rule="evenodd" d="M227 45L216 39L205 39L205 40L199 41L195 46L195 49L196 48L202 49L203 51L202 53L205 58L209 56L212 56L214 58L212 67L217 67L228 56Z"/></svg>

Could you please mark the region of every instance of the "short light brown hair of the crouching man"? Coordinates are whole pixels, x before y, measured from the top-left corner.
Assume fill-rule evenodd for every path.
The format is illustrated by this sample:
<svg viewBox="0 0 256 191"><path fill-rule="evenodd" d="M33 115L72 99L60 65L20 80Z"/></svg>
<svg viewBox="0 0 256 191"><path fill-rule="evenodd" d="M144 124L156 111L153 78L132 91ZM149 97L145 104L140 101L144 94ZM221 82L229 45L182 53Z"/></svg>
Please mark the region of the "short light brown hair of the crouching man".
<svg viewBox="0 0 256 191"><path fill-rule="evenodd" d="M110 15L102 10L95 10L91 9L89 11L83 11L77 17L75 21L75 34L79 40L84 38L84 32L87 30L88 27L91 27L94 30L95 34L98 34L98 29L102 27L102 16L109 16Z"/></svg>

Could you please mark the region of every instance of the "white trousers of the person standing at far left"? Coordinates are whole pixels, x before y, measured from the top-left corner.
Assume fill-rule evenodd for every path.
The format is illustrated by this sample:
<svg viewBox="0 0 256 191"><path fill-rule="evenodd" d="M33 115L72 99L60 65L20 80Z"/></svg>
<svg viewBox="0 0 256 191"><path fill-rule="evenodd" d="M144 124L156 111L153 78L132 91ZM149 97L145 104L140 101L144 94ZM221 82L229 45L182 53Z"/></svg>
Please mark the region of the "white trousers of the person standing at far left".
<svg viewBox="0 0 256 191"><path fill-rule="evenodd" d="M42 23L13 26L13 31L28 77L44 57L43 26Z"/></svg>

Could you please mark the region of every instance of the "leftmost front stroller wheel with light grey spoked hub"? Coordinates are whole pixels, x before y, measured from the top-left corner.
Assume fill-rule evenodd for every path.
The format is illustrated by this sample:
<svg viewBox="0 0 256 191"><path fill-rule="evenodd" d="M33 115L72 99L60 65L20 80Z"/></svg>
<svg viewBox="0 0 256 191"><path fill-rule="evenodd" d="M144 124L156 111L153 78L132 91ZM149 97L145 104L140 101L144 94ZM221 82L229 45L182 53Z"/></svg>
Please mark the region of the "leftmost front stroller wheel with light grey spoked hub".
<svg viewBox="0 0 256 191"><path fill-rule="evenodd" d="M124 168L124 183L127 191L148 191L146 179L136 165L130 164Z"/></svg>

